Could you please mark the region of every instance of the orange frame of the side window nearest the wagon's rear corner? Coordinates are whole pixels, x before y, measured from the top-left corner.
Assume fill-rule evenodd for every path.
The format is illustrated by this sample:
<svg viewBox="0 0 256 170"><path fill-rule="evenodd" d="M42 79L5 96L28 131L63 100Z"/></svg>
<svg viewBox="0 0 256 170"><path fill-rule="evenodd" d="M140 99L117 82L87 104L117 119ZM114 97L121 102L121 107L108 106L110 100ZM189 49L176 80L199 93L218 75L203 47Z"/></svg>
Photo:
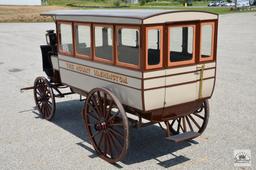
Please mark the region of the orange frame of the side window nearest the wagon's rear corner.
<svg viewBox="0 0 256 170"><path fill-rule="evenodd" d="M118 30L122 29L122 28L126 28L126 29L137 29L139 30L139 62L138 65L135 64L130 64L130 63L125 63L125 62L121 62L118 60ZM116 66L121 66L121 67L125 67L125 68L133 68L133 69L139 69L140 65L141 65L141 27L140 26L133 26L133 25L116 25L115 26L115 54L116 54L116 59L115 59L115 65Z"/></svg>

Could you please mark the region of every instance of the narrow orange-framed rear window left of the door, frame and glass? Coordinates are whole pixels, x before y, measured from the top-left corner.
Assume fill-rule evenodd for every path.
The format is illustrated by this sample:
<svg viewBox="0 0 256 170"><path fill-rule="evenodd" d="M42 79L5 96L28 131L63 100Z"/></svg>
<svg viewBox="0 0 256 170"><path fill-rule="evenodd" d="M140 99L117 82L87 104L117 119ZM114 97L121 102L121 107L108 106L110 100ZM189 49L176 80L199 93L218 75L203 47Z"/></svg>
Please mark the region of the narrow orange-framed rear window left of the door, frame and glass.
<svg viewBox="0 0 256 170"><path fill-rule="evenodd" d="M148 27L146 42L147 68L162 66L162 27Z"/></svg>

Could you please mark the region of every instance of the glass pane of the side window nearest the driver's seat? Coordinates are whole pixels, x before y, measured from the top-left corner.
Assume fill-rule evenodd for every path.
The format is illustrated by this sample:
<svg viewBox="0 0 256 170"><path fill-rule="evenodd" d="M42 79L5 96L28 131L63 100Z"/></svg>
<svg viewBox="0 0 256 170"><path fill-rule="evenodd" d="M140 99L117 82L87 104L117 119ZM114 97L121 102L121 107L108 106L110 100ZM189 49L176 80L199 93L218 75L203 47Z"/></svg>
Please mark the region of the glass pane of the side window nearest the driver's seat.
<svg viewBox="0 0 256 170"><path fill-rule="evenodd" d="M63 52L73 51L72 26L70 24L60 24L60 49Z"/></svg>

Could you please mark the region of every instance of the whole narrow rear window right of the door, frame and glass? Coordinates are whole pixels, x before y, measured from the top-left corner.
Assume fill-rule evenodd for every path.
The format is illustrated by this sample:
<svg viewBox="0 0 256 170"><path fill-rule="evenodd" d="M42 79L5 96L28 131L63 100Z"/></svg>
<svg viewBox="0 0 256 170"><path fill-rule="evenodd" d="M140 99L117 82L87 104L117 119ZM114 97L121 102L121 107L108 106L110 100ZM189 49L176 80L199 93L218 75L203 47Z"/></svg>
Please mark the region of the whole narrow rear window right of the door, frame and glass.
<svg viewBox="0 0 256 170"><path fill-rule="evenodd" d="M201 25L201 49L200 59L208 60L213 56L213 36L214 36L213 23L204 23Z"/></svg>

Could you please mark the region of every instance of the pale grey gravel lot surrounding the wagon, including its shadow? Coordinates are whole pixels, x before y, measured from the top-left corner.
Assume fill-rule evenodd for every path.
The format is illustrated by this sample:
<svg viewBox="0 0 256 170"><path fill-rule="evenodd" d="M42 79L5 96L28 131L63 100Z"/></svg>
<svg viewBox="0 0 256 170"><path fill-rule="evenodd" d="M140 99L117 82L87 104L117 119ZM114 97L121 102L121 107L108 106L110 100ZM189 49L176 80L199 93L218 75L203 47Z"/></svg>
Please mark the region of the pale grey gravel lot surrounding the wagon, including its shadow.
<svg viewBox="0 0 256 170"><path fill-rule="evenodd" d="M51 23L0 24L0 169L234 169L234 149L250 149L256 168L256 14L220 16L218 72L202 136L180 144L158 126L131 129L126 158L111 165L95 155L78 95L57 100L52 122L34 109L42 72L39 45ZM251 168L252 168L251 167Z"/></svg>

